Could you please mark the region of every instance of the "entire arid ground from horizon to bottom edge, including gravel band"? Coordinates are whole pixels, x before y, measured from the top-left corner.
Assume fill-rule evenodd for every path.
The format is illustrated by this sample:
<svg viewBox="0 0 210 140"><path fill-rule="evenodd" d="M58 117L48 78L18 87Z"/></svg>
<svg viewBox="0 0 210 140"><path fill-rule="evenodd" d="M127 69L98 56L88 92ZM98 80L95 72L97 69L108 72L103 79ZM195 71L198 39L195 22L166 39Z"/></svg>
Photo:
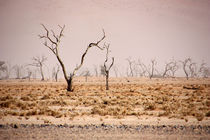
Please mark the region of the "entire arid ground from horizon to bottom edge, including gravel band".
<svg viewBox="0 0 210 140"><path fill-rule="evenodd" d="M209 139L210 79L0 81L0 124L0 139Z"/></svg>

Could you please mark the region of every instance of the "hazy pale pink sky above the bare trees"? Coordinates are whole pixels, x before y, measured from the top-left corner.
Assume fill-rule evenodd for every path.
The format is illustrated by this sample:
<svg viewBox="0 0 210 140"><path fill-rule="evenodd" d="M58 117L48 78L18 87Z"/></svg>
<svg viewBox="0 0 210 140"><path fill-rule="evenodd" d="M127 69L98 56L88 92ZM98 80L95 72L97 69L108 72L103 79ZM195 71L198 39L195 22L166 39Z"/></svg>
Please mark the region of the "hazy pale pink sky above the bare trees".
<svg viewBox="0 0 210 140"><path fill-rule="evenodd" d="M209 0L0 0L0 60L26 64L44 54L55 65L37 36L43 33L40 23L66 25L60 53L69 70L102 28L122 68L129 56L156 58L160 66L172 57L210 65ZM84 67L103 61L104 52L93 49Z"/></svg>

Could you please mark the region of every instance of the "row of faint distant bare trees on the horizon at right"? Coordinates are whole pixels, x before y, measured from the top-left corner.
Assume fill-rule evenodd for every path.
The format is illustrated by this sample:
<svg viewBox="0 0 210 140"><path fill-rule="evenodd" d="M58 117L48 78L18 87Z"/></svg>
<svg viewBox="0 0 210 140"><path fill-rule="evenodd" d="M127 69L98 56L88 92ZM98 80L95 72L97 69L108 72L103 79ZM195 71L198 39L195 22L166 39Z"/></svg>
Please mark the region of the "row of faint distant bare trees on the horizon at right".
<svg viewBox="0 0 210 140"><path fill-rule="evenodd" d="M165 63L162 70L158 70L156 59L152 59L148 64L143 63L140 59L135 61L127 58L126 61L128 64L127 77L175 78L178 70L183 71L187 80L210 77L210 68L207 64L205 62L196 63L190 57L184 60L171 59Z"/></svg>

